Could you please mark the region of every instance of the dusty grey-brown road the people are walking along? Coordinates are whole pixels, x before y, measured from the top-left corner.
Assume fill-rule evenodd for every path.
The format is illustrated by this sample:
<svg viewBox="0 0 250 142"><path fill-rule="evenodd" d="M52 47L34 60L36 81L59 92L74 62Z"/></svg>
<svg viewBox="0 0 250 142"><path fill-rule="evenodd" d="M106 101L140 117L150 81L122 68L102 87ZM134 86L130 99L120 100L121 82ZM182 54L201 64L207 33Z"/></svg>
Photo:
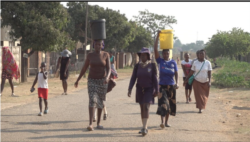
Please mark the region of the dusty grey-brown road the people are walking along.
<svg viewBox="0 0 250 142"><path fill-rule="evenodd" d="M181 71L181 70L180 70ZM182 74L179 72L179 82ZM215 94L210 94L207 108L198 114L194 96L185 103L184 88L177 90L177 114L170 116L170 128L161 130L157 104L150 107L149 134L142 137L139 105L127 97L129 79L120 80L107 94L109 117L101 122L104 130L89 132L87 89L49 99L49 114L37 116L38 102L0 111L0 141L232 141L232 130L221 121L224 107ZM157 102L157 100L156 100ZM94 125L96 126L96 124Z"/></svg>

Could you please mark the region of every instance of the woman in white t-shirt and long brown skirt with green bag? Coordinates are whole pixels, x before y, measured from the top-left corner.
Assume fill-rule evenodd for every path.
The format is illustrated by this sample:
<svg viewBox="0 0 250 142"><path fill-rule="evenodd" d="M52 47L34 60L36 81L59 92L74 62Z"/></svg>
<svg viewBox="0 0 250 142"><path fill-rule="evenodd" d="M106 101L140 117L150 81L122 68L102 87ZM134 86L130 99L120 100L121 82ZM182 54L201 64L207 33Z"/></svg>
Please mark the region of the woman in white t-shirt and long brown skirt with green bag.
<svg viewBox="0 0 250 142"><path fill-rule="evenodd" d="M202 110L206 108L211 86L212 66L211 62L205 59L205 54L205 50L199 51L199 58L197 61L194 61L191 72L184 82L187 84L188 79L194 74L195 78L192 85L196 100L196 108L199 109L199 113L202 113Z"/></svg>

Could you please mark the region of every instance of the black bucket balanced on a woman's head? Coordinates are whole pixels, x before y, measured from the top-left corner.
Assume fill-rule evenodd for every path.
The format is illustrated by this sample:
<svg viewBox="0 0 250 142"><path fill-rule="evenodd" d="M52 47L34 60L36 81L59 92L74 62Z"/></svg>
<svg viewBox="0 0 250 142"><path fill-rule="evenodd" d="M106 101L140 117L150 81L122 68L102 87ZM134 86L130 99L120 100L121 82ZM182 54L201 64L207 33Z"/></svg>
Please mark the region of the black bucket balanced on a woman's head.
<svg viewBox="0 0 250 142"><path fill-rule="evenodd" d="M105 21L106 21L105 19L90 21L92 39L94 40L106 39Z"/></svg>

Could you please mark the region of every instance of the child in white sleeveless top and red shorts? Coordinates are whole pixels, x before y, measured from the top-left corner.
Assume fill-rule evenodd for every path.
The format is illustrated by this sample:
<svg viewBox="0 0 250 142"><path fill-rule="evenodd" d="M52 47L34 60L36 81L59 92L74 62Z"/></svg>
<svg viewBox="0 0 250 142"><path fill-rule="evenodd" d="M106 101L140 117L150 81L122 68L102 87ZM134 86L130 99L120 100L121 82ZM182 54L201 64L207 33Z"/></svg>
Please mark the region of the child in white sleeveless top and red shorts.
<svg viewBox="0 0 250 142"><path fill-rule="evenodd" d="M34 80L34 83L31 87L31 91L34 90L34 86L38 82L38 98L39 98L39 107L40 107L40 113L38 116L42 116L42 98L44 100L45 104L45 110L44 114L47 114L49 109L48 109L48 73L45 71L46 68L46 63L42 62L40 66L40 72L37 73L36 79Z"/></svg>

